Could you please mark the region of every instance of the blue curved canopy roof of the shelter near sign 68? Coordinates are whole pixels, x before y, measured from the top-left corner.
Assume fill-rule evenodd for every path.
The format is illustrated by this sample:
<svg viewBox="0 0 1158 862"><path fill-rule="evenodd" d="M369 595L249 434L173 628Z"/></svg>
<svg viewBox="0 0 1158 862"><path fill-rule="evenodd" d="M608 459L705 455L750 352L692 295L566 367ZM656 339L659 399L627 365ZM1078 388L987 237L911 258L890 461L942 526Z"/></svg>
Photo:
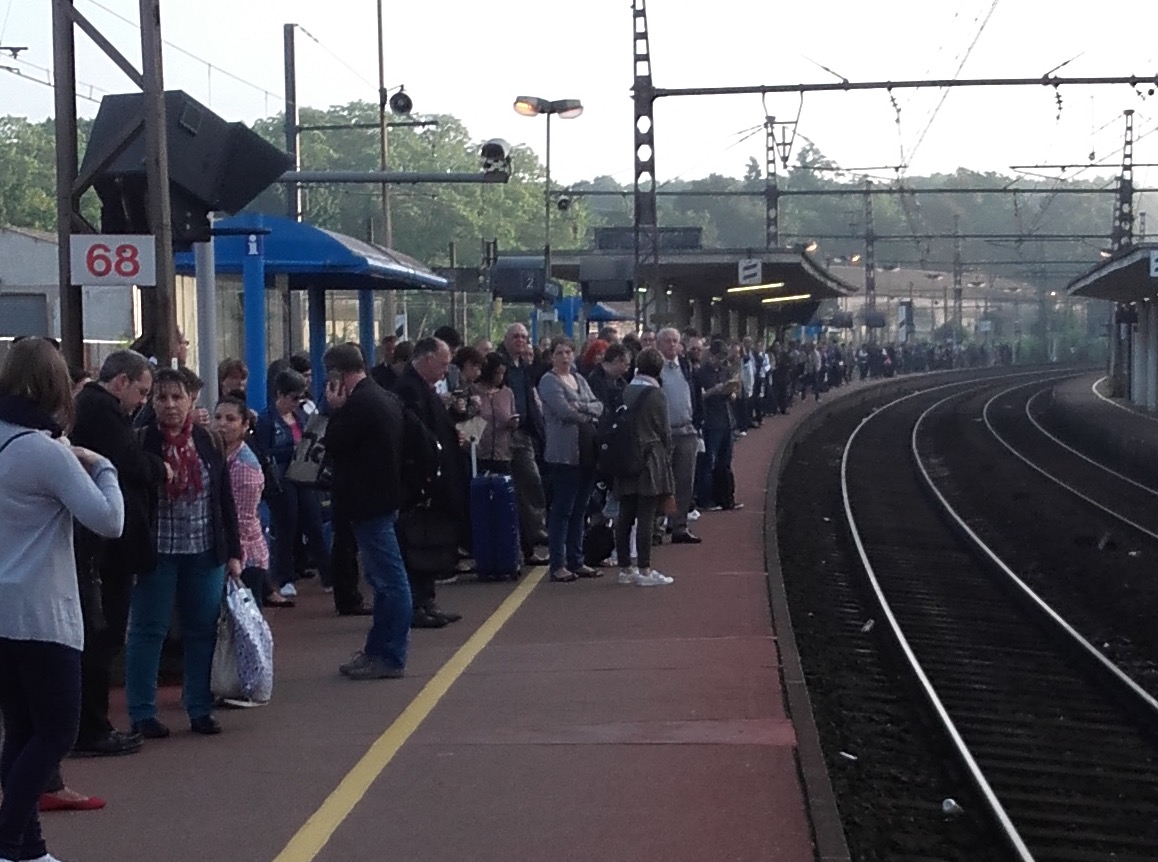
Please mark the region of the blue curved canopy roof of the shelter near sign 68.
<svg viewBox="0 0 1158 862"><path fill-rule="evenodd" d="M445 278L412 257L284 216L241 213L213 227L241 232L213 238L218 272L240 273L245 256L254 254L256 238L265 272L288 276L295 290L448 288ZM261 233L250 236L245 231ZM193 273L192 251L178 251L175 258L179 275Z"/></svg>

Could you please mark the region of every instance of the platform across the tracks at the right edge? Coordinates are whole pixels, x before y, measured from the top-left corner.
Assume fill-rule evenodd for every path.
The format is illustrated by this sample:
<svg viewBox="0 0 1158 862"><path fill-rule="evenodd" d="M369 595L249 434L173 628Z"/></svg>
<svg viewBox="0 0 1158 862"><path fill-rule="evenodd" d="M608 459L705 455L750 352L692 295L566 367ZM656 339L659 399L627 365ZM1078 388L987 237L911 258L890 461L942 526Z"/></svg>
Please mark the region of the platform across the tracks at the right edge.
<svg viewBox="0 0 1158 862"><path fill-rule="evenodd" d="M1053 388L1046 418L1093 451L1108 450L1130 474L1158 483L1158 416L1123 399L1111 399L1101 372Z"/></svg>

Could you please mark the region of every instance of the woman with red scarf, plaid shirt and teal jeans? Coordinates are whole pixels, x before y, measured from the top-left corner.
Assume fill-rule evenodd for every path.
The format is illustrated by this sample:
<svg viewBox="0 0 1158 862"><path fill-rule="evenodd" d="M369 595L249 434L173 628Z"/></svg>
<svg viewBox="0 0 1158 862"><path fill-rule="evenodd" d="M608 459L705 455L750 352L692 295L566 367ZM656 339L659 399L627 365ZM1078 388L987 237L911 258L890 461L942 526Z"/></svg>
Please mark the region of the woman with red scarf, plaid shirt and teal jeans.
<svg viewBox="0 0 1158 862"><path fill-rule="evenodd" d="M241 538L229 470L218 438L193 421L185 378L162 368L153 380L156 419L145 429L146 452L169 475L156 501L156 569L137 579L125 646L125 695L133 730L169 736L156 716L161 646L176 601L184 646L182 702L195 733L220 733L213 717L210 665L225 576L241 577Z"/></svg>

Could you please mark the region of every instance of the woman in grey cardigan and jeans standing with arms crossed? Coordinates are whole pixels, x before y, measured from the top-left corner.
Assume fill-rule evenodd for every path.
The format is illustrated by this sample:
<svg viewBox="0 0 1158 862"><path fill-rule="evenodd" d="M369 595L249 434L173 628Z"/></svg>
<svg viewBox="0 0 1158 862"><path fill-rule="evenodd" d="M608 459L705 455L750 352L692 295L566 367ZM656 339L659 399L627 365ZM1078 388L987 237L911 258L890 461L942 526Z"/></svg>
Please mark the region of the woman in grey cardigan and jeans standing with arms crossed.
<svg viewBox="0 0 1158 862"><path fill-rule="evenodd" d="M551 341L551 370L538 381L547 440L543 461L551 483L547 512L551 580L598 578L602 572L582 561L584 520L595 490L595 422L603 412L587 381L573 370L570 338Z"/></svg>

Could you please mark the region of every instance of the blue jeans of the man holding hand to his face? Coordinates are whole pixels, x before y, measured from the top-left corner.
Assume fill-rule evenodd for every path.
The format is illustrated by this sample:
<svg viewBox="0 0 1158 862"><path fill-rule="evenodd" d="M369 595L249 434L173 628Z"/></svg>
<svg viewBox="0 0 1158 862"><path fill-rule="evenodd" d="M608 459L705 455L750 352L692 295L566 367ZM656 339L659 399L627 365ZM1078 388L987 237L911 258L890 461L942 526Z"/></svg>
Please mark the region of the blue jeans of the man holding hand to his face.
<svg viewBox="0 0 1158 862"><path fill-rule="evenodd" d="M374 620L362 652L391 667L406 666L410 641L410 579L402 561L395 525L398 513L354 521L354 539L362 558L362 574L374 591Z"/></svg>

